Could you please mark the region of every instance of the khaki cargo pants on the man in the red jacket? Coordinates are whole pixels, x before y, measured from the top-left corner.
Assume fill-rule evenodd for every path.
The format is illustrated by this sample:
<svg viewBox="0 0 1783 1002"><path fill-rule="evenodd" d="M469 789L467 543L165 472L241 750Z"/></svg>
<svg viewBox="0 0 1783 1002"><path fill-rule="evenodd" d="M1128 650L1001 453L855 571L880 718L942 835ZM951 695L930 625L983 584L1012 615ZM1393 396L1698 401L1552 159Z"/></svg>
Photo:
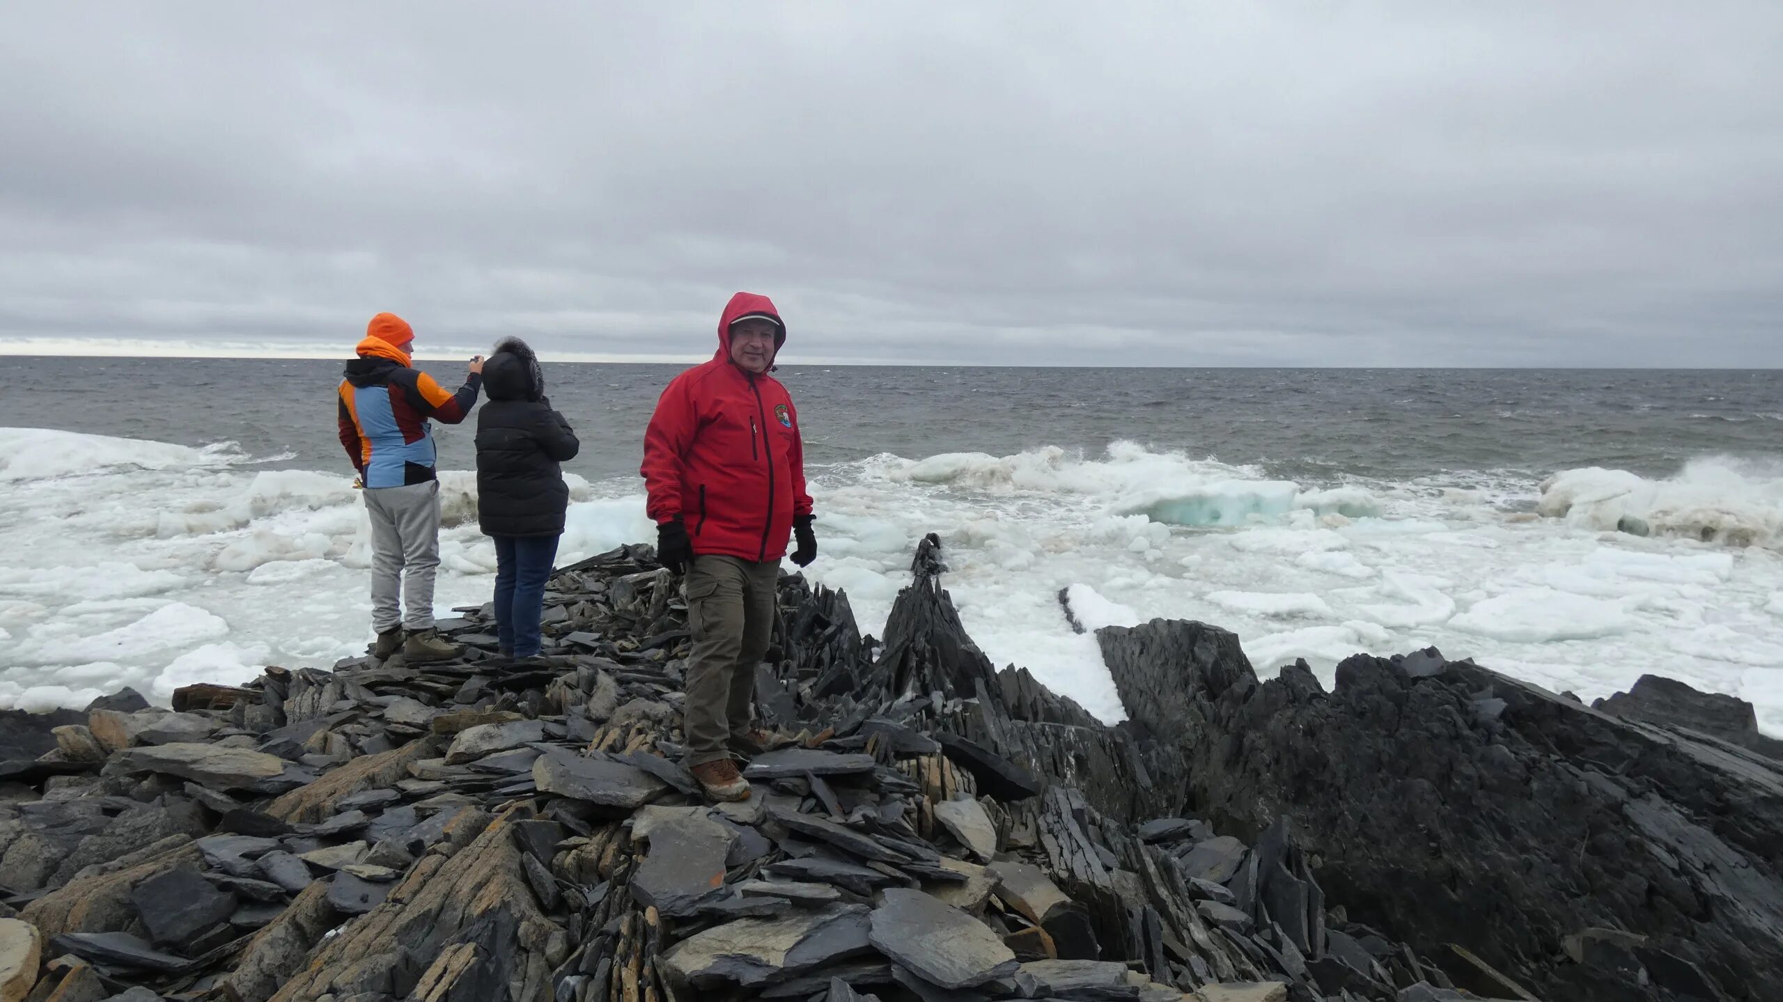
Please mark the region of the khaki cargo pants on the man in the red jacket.
<svg viewBox="0 0 1783 1002"><path fill-rule="evenodd" d="M729 758L731 738L749 733L756 665L774 637L779 562L695 556L686 571L686 765Z"/></svg>

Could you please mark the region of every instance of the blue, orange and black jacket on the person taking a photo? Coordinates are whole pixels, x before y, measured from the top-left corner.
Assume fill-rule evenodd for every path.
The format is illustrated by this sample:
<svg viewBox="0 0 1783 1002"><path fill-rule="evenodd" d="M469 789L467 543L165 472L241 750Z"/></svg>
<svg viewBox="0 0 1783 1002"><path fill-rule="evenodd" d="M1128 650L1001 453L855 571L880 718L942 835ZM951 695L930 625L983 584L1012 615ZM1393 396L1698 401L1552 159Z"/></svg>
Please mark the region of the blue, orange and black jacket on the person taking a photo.
<svg viewBox="0 0 1783 1002"><path fill-rule="evenodd" d="M408 355L376 333L360 341L357 351L358 358L346 364L339 392L341 446L353 469L366 487L433 480L437 456L428 419L464 421L483 378L472 373L453 394L410 367Z"/></svg>

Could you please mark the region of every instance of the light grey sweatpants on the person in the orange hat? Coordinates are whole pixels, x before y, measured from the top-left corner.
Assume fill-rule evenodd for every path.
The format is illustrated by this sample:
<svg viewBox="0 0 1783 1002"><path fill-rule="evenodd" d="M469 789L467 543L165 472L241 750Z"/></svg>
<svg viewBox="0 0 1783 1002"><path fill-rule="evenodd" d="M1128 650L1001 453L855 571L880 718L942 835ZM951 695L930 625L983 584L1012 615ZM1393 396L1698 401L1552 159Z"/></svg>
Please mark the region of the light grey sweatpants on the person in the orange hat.
<svg viewBox="0 0 1783 1002"><path fill-rule="evenodd" d="M371 628L433 628L433 574L440 565L440 485L367 487L371 513ZM408 599L403 613L401 597Z"/></svg>

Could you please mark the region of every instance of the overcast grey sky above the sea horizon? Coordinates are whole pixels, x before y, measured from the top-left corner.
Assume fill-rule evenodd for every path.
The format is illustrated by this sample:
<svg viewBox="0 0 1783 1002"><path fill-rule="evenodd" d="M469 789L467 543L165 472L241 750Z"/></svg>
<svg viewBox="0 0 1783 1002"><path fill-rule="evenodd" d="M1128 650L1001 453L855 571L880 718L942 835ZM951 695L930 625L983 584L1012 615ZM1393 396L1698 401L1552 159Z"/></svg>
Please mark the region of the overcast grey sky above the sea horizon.
<svg viewBox="0 0 1783 1002"><path fill-rule="evenodd" d="M12 351L1783 365L1783 4L20 4Z"/></svg>

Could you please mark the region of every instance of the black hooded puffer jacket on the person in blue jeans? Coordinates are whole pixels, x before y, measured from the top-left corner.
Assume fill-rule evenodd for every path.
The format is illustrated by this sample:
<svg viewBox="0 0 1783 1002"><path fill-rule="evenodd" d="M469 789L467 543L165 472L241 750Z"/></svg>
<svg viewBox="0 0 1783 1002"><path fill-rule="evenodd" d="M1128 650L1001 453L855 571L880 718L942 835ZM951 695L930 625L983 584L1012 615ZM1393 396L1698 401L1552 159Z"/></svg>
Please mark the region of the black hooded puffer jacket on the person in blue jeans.
<svg viewBox="0 0 1783 1002"><path fill-rule="evenodd" d="M576 433L546 399L538 357L517 337L483 362L489 403L476 412L476 517L485 535L553 537L563 531L569 487L560 462L576 458Z"/></svg>

